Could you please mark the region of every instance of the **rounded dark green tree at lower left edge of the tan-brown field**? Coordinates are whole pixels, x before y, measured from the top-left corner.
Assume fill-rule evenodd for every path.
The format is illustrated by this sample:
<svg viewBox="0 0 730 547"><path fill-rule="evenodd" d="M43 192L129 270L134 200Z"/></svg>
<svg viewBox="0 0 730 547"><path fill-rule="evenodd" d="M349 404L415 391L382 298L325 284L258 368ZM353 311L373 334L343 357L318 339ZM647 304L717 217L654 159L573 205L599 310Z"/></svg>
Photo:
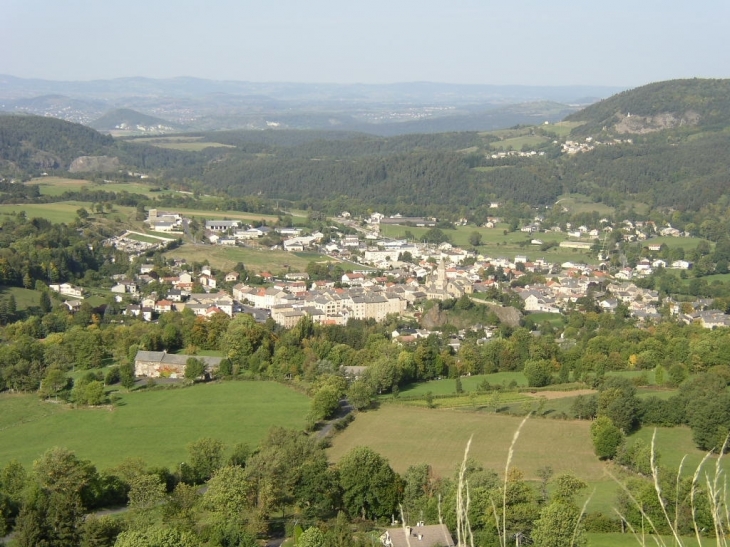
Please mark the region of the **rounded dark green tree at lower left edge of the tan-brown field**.
<svg viewBox="0 0 730 547"><path fill-rule="evenodd" d="M342 504L350 517L378 519L395 513L400 478L380 454L355 447L340 460L339 472Z"/></svg>

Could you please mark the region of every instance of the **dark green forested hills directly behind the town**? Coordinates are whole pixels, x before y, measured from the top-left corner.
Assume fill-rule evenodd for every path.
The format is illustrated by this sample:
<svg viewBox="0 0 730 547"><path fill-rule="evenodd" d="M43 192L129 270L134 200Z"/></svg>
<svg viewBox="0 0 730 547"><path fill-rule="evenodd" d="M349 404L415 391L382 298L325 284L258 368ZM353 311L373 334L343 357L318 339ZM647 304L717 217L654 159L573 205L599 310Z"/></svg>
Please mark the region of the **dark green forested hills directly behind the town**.
<svg viewBox="0 0 730 547"><path fill-rule="evenodd" d="M493 201L550 206L565 193L696 212L727 191L729 80L650 84L568 120L563 127L515 128L510 138L505 132L191 133L180 138L193 139L196 148L174 149L145 139L114 142L48 118L4 116L0 175L63 172L76 156L106 154L121 168L193 191L259 195L327 213L377 208L444 218L482 217ZM567 141L584 149L566 153Z"/></svg>

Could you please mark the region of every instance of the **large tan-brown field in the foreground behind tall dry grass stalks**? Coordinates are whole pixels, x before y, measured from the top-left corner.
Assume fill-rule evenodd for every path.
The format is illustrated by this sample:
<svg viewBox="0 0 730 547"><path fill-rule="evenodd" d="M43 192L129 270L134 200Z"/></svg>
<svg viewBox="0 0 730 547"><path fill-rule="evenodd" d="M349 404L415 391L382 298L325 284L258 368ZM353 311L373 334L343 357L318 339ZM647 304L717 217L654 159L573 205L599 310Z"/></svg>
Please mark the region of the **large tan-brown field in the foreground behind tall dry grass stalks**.
<svg viewBox="0 0 730 547"><path fill-rule="evenodd" d="M365 445L386 457L398 472L428 463L436 474L450 476L474 435L470 457L499 471L504 469L520 421L499 414L383 405L377 411L358 414L334 438L330 458L337 461L353 447ZM556 473L601 480L604 468L593 453L589 428L587 421L530 419L520 433L512 465L530 480L537 480L537 470L547 465Z"/></svg>

